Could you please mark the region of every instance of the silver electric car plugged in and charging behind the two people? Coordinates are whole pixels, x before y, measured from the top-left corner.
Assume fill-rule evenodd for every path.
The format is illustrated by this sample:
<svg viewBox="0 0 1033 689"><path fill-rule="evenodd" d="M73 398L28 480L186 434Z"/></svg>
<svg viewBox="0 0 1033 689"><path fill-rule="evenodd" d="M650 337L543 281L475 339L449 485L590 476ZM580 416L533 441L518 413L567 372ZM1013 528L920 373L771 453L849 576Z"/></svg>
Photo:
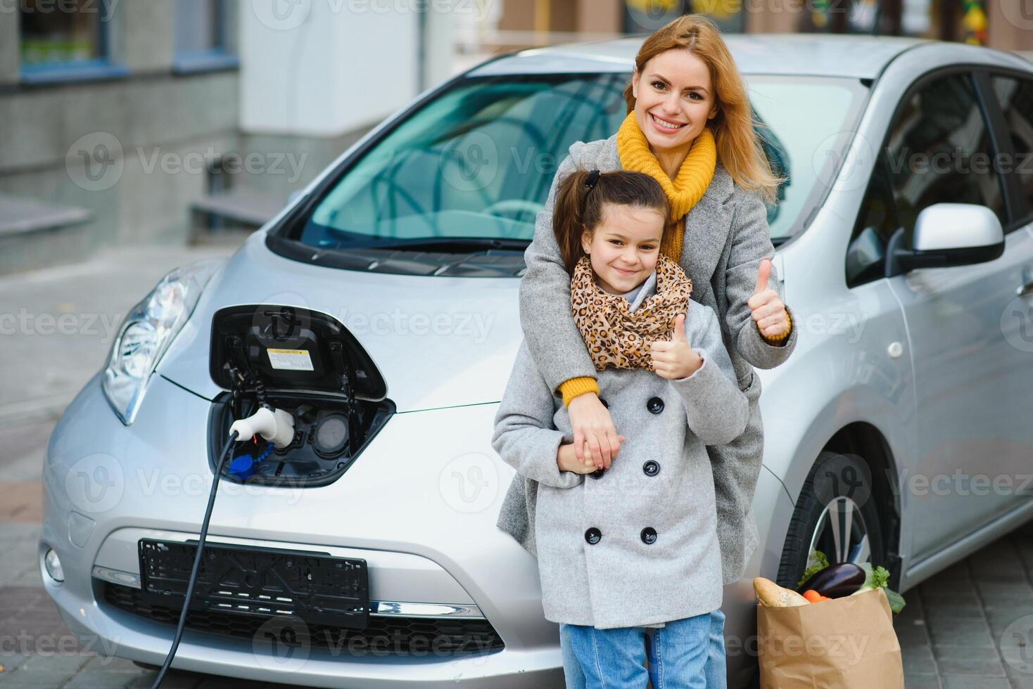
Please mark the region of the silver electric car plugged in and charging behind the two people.
<svg viewBox="0 0 1033 689"><path fill-rule="evenodd" d="M39 566L72 630L161 663L227 430L268 404L293 437L229 446L175 667L562 686L535 560L495 526L512 470L490 438L535 216L570 143L617 130L640 40L524 51L420 95L228 261L139 302L48 449ZM760 546L723 604L741 687L754 577L792 585L821 551L906 592L1033 516L1033 65L727 40L789 179L769 220L800 328L758 371Z"/></svg>

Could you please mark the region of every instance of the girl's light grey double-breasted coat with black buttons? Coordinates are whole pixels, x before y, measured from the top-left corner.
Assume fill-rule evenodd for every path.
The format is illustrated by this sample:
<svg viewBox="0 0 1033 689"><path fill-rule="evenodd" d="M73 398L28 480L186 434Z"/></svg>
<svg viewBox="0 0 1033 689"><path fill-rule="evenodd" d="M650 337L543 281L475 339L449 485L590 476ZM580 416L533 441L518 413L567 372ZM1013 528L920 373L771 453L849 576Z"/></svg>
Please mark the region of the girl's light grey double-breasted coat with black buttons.
<svg viewBox="0 0 1033 689"><path fill-rule="evenodd" d="M656 271L629 309L655 291ZM609 629L721 606L706 446L742 433L749 402L735 384L714 309L690 302L685 333L702 359L691 375L668 381L646 368L599 371L600 398L627 439L598 478L559 469L559 446L573 441L570 418L521 343L492 446L518 478L536 483L534 528L547 620Z"/></svg>

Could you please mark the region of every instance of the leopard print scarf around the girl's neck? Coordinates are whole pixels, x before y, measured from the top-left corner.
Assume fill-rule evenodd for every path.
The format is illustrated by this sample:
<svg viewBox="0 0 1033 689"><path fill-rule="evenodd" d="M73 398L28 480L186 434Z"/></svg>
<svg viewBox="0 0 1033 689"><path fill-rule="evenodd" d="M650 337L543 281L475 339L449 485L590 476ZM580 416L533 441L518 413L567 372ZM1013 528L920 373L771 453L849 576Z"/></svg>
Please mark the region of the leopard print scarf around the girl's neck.
<svg viewBox="0 0 1033 689"><path fill-rule="evenodd" d="M629 311L631 304L626 298L596 284L591 259L583 256L570 280L570 309L596 370L606 366L655 370L650 342L671 339L675 317L688 314L691 292L692 280L682 266L660 254L656 294Z"/></svg>

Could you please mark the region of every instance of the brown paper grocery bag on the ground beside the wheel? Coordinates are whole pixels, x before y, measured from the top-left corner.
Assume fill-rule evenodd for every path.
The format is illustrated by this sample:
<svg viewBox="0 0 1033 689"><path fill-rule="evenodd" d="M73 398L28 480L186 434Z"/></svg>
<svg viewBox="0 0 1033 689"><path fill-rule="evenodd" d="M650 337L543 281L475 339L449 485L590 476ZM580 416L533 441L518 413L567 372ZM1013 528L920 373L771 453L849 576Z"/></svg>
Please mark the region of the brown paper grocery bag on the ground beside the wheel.
<svg viewBox="0 0 1033 689"><path fill-rule="evenodd" d="M757 605L760 689L904 689L882 589L796 608Z"/></svg>

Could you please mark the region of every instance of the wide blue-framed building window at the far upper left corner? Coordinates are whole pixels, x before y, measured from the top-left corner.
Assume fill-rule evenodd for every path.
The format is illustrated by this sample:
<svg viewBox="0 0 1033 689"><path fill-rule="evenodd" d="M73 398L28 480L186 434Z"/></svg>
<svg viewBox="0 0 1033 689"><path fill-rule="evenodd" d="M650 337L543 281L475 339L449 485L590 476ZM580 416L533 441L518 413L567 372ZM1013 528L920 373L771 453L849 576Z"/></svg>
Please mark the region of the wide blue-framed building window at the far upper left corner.
<svg viewBox="0 0 1033 689"><path fill-rule="evenodd" d="M21 0L23 77L45 80L111 71L107 33L114 10L114 3L96 0Z"/></svg>

